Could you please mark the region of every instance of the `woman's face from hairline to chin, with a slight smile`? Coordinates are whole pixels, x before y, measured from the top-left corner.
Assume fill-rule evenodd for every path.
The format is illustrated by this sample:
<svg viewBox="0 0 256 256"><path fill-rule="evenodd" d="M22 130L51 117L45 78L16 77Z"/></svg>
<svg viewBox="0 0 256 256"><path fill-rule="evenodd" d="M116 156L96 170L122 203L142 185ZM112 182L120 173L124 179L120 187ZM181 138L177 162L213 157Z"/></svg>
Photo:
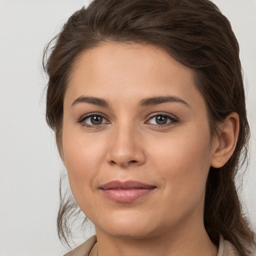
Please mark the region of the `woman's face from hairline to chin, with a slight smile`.
<svg viewBox="0 0 256 256"><path fill-rule="evenodd" d="M96 232L203 226L213 149L193 71L155 46L109 42L83 52L69 78L62 157Z"/></svg>

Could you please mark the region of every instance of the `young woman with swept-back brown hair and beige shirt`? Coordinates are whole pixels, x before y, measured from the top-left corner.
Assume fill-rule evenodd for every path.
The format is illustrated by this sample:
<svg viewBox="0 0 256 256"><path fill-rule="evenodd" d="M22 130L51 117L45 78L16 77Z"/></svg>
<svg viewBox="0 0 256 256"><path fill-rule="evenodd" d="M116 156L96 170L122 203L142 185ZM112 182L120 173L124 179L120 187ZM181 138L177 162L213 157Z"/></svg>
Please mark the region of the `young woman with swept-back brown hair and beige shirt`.
<svg viewBox="0 0 256 256"><path fill-rule="evenodd" d="M46 119L96 230L66 255L253 255L234 184L249 135L239 48L218 8L94 0L54 43ZM66 242L76 203L61 201Z"/></svg>

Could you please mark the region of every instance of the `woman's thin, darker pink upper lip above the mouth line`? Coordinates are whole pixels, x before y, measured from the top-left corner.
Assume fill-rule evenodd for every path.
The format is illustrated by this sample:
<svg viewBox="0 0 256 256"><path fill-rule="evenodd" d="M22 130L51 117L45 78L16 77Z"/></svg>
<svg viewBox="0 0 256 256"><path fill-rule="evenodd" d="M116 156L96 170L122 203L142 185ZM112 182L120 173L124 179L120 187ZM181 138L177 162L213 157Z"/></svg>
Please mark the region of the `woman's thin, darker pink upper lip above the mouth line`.
<svg viewBox="0 0 256 256"><path fill-rule="evenodd" d="M105 184L99 186L101 189L134 189L134 188L154 188L156 186L146 184L136 180L127 180L127 181L120 181L120 180L112 180Z"/></svg>

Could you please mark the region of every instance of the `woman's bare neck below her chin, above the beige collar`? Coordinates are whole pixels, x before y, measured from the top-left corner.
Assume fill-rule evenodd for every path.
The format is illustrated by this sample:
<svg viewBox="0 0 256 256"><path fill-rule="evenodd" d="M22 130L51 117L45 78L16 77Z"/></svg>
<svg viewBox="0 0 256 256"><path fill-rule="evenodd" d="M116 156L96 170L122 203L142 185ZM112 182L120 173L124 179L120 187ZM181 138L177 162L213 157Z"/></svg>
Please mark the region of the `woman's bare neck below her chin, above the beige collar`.
<svg viewBox="0 0 256 256"><path fill-rule="evenodd" d="M204 227L181 230L144 238L105 235L96 230L97 246L91 255L97 256L216 256L217 248L210 241Z"/></svg>

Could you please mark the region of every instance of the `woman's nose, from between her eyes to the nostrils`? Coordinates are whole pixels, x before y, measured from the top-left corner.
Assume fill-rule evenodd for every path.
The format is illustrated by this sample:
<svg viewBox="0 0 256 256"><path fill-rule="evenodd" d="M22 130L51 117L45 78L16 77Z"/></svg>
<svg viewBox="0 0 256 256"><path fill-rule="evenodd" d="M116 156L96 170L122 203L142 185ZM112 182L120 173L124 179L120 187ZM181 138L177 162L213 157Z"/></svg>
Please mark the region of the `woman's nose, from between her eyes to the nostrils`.
<svg viewBox="0 0 256 256"><path fill-rule="evenodd" d="M112 130L106 160L122 168L139 166L145 162L141 135L134 127L124 126Z"/></svg>

